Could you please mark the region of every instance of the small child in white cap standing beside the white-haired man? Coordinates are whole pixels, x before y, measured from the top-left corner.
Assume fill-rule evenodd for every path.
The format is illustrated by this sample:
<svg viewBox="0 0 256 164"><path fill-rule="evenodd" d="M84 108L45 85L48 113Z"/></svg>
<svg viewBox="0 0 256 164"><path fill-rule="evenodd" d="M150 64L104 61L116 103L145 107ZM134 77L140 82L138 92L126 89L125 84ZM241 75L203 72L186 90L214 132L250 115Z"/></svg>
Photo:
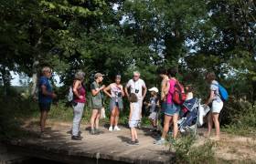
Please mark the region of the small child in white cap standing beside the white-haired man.
<svg viewBox="0 0 256 164"><path fill-rule="evenodd" d="M144 104L147 105L148 108L150 108L150 115L149 119L151 122L151 125L153 126L153 131L157 130L157 113L159 109L159 98L157 97L158 89L156 87L152 87L148 89L150 91L151 97L149 99L149 103L145 102Z"/></svg>

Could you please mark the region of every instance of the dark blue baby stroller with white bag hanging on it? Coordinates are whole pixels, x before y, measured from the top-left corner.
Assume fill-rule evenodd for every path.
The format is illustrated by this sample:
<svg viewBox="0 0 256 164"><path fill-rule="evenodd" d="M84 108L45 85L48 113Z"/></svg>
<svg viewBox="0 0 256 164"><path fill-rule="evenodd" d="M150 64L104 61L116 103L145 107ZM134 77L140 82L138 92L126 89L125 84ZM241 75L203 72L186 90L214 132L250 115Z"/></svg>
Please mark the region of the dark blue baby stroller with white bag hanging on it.
<svg viewBox="0 0 256 164"><path fill-rule="evenodd" d="M187 112L183 113L182 118L178 120L181 133L193 132L196 135L197 127L203 125L203 118L207 115L209 108L204 108L200 103L201 99L197 97L184 102L183 107Z"/></svg>

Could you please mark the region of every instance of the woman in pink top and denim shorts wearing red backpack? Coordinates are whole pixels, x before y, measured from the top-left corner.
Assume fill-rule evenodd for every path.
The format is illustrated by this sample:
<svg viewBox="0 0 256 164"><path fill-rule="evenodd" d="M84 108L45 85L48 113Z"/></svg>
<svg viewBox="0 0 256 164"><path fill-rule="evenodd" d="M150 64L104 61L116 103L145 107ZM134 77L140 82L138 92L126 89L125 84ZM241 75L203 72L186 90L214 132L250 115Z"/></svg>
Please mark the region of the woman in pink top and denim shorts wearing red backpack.
<svg viewBox="0 0 256 164"><path fill-rule="evenodd" d="M157 145L165 144L165 138L169 131L170 122L172 122L174 126L173 138L176 138L177 132L178 132L177 120L178 120L181 104L183 103L181 102L183 99L176 99L176 94L179 94L178 96L181 96L181 94L185 94L185 93L182 93L184 92L184 88L179 84L178 80L176 79L177 68L176 67L170 68L168 70L168 73L170 77L167 83L167 87L165 88L165 93L167 93L167 95L165 96L166 104L165 104L164 128L162 132L162 137L155 142L155 144ZM176 91L178 92L176 93Z"/></svg>

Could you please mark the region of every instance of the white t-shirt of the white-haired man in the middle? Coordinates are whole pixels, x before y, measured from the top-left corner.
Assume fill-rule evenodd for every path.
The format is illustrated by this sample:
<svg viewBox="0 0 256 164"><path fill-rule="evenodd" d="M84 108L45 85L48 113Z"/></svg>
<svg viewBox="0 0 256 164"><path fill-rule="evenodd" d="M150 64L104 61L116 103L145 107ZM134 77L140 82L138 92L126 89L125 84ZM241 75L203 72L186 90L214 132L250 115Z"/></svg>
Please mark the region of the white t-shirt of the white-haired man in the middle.
<svg viewBox="0 0 256 164"><path fill-rule="evenodd" d="M134 93L139 99L143 97L143 87L145 87L143 79L139 78L137 81L130 79L126 87L130 87L131 93Z"/></svg>

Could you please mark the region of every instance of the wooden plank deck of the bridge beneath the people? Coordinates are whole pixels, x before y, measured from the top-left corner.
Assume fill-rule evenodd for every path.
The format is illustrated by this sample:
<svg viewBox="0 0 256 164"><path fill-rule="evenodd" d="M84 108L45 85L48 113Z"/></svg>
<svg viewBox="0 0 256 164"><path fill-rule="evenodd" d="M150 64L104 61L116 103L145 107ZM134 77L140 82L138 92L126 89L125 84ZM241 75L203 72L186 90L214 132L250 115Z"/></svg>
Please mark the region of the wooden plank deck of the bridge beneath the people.
<svg viewBox="0 0 256 164"><path fill-rule="evenodd" d="M14 148L19 147L32 157L43 159L61 157L60 161L72 161L72 163L80 163L84 159L108 159L126 163L162 164L169 163L172 158L170 154L165 154L167 148L154 145L155 138L148 136L144 130L138 130L139 146L127 146L126 141L130 140L129 128L122 127L121 131L113 132L102 128L104 133L96 136L82 130L81 141L70 140L68 130L68 126L53 126L48 129L51 138L23 138L12 140L9 144Z"/></svg>

